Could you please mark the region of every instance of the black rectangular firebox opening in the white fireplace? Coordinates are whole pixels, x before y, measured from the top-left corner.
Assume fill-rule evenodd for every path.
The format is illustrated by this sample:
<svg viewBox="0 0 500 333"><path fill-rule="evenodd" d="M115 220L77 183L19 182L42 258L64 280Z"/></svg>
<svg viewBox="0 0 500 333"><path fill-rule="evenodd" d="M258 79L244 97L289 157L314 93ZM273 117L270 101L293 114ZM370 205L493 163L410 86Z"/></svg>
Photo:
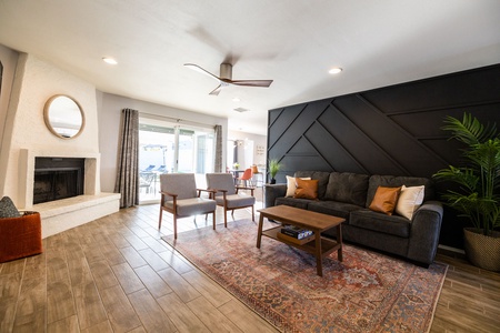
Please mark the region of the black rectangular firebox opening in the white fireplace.
<svg viewBox="0 0 500 333"><path fill-rule="evenodd" d="M36 158L33 204L83 194L86 159Z"/></svg>

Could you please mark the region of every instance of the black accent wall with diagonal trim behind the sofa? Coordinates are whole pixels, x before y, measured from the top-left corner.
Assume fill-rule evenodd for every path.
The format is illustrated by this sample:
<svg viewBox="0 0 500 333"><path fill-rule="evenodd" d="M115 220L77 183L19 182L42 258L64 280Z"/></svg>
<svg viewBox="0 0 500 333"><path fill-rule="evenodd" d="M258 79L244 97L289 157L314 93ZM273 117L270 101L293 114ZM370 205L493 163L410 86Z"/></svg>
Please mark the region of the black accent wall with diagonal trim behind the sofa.
<svg viewBox="0 0 500 333"><path fill-rule="evenodd" d="M500 64L270 110L268 159L283 163L278 182L297 170L430 178L460 162L441 127L466 111L500 124ZM452 215L440 242L462 248Z"/></svg>

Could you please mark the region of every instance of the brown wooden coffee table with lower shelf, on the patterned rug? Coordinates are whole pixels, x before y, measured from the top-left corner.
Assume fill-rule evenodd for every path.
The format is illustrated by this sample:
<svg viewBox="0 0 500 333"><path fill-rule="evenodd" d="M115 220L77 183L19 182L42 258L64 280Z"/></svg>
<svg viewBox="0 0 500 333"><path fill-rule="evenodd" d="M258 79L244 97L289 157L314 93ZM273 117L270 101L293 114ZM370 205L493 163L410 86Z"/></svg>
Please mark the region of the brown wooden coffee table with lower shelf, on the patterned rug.
<svg viewBox="0 0 500 333"><path fill-rule="evenodd" d="M289 205L276 205L258 210L260 212L257 248L260 249L262 235L283 242L288 245L312 253L316 256L316 268L319 276L323 276L322 259L337 250L339 261L342 261L342 222L344 219L301 210ZM314 232L314 238L308 243L297 244L278 238L282 225L262 230L263 218L276 220L282 224L297 225ZM337 241L321 236L321 232L337 228Z"/></svg>

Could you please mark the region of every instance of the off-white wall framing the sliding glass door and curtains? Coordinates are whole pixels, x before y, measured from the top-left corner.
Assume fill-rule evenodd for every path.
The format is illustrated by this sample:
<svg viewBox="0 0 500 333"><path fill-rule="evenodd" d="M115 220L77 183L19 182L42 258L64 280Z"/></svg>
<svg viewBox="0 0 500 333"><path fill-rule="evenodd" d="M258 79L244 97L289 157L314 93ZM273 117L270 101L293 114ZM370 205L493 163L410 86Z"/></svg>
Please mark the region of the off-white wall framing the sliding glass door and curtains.
<svg viewBox="0 0 500 333"><path fill-rule="evenodd" d="M99 109L99 149L101 152L102 191L112 192L114 190L122 109L134 109L140 113L180 119L180 123L186 124L204 124L212 128L216 124L222 125L222 163L226 163L226 142L228 138L228 120L226 118L190 112L104 92L98 92L97 100Z"/></svg>

